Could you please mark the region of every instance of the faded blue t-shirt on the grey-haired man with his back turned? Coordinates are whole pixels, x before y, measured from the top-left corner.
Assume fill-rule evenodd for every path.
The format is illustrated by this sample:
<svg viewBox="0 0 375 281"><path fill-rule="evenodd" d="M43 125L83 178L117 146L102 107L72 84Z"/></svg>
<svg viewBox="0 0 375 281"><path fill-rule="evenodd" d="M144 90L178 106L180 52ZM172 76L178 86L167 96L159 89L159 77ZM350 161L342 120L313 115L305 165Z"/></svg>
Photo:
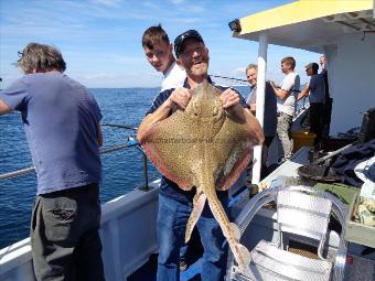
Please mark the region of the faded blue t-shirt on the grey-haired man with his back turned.
<svg viewBox="0 0 375 281"><path fill-rule="evenodd" d="M58 72L28 74L0 91L21 111L38 175L38 194L97 183L100 109L87 88Z"/></svg>

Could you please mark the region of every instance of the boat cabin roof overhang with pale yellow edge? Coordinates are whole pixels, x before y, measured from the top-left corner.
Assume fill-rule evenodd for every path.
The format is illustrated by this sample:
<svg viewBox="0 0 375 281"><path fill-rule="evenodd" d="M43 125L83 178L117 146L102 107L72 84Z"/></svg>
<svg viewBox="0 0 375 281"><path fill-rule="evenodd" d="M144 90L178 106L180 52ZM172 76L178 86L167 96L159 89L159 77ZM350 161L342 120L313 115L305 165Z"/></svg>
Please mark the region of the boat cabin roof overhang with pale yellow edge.
<svg viewBox="0 0 375 281"><path fill-rule="evenodd" d="M233 36L323 53L323 46L347 33L375 32L374 0L300 0L239 19L242 31Z"/></svg>

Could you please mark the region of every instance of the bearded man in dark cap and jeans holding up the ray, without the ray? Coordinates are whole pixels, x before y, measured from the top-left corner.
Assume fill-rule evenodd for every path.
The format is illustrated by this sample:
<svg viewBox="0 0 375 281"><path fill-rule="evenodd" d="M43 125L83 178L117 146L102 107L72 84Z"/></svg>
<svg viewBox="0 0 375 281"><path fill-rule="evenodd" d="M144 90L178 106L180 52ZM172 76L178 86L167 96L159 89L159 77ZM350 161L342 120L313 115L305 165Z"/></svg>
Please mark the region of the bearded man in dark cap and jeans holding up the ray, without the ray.
<svg viewBox="0 0 375 281"><path fill-rule="evenodd" d="M139 126L137 138L140 142L142 142L148 130L158 121L168 118L174 108L182 110L186 108L192 97L193 88L205 79L212 83L207 75L208 50L199 32L189 30L180 34L174 40L174 52L178 57L176 63L186 72L188 77L184 87L168 89L159 94ZM229 115L239 118L239 120L244 119L245 115L248 116L251 120L255 141L261 142L264 138L261 128L251 112L248 109L244 109L246 106L245 99L234 89L214 86L222 91L221 101L223 108ZM227 192L216 193L224 209L227 212ZM180 280L179 252L184 244L186 223L192 212L194 194L195 190L185 192L165 176L162 177L158 215L159 281ZM218 223L213 217L207 204L196 225L204 248L202 280L223 280L226 270L227 247L224 244L225 238Z"/></svg>

